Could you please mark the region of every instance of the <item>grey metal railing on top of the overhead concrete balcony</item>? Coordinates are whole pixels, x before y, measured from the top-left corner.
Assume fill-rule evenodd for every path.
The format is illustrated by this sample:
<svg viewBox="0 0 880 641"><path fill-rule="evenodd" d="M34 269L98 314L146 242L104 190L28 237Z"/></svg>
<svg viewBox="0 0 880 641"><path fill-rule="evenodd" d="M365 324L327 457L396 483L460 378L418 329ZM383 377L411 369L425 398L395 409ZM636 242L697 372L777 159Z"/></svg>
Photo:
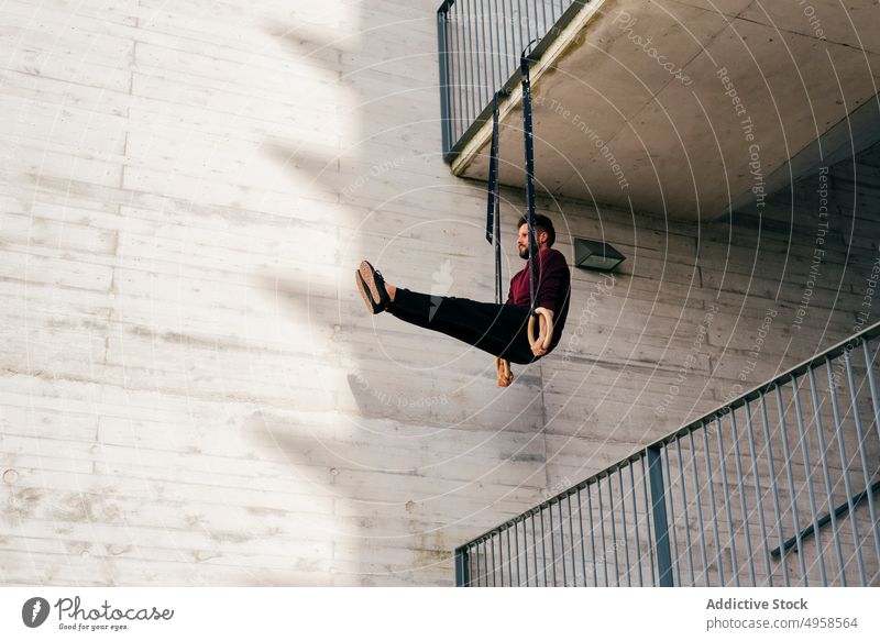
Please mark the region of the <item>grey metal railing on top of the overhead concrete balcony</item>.
<svg viewBox="0 0 880 641"><path fill-rule="evenodd" d="M437 11L443 156L451 162L492 115L492 98L519 81L519 56L538 58L586 0L446 0Z"/></svg>

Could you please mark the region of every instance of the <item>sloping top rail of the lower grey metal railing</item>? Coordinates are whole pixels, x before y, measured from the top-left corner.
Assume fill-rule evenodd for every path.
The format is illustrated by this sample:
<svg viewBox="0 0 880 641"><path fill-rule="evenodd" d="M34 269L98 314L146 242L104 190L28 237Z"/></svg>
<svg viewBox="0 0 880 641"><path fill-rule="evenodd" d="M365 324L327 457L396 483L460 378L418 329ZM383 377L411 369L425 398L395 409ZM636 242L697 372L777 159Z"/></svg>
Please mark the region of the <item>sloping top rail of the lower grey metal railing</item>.
<svg viewBox="0 0 880 641"><path fill-rule="evenodd" d="M694 421L691 421L689 423L685 423L684 426L673 430L672 432L670 432L669 434L667 434L662 439L659 439L659 440L654 441L653 443L651 443L649 445L646 445L645 447L641 447L637 452L634 452L632 454L630 454L629 456L626 456L625 458L618 461L617 463L613 463L608 467L602 469L601 472L597 472L596 474L590 476L588 478L585 478L584 480L582 480L580 483L576 483L575 485L572 485L571 487L569 487L566 489L563 489L562 491L560 491L556 496L552 496L552 497L541 501L537 506L535 506L532 508L529 508L528 510L517 515L513 519L508 519L506 521L503 521L502 523L495 526L494 528L492 528L490 530L486 530L485 532L483 532L479 537L475 537L475 538L471 539L470 541L468 541L466 543L463 543L462 545L459 545L457 548L457 550L462 550L462 549L464 549L464 548L466 548L469 545L472 545L474 543L479 543L481 541L490 539L493 533L495 533L495 532L497 532L499 530L503 530L505 528L508 528L510 526L514 526L514 524L518 523L519 521L522 521L522 520L527 519L531 515L536 515L539 511L546 509L547 507L550 507L550 506L553 506L553 505L558 504L562 499L564 499L564 498L566 498L566 497L569 497L569 496L571 496L573 494L576 494L579 490L586 488L591 484L597 483L602 478L614 474L615 472L617 472L620 468L626 467L630 463L636 463L638 461L641 461L642 458L645 458L648 455L648 451L649 450L657 450L659 447L662 447L664 444L674 441L678 438L686 435L688 432L693 432L695 430L698 430L706 422L708 422L708 421L711 421L711 420L713 420L715 418L718 418L721 416L726 416L727 413L729 413L729 411L733 411L737 407L741 407L743 405L745 405L746 401L752 400L755 398L758 398L765 391L773 388L774 386L780 385L782 383L785 383L785 382L790 380L791 378L807 372L813 365L816 365L816 364L823 363L823 362L825 362L827 360L831 360L831 358L834 358L836 356L839 356L844 352L848 352L850 349L853 349L856 345L858 345L862 340L872 339L872 338L875 338L877 335L880 335L880 321L876 322L875 324L872 324L872 325L870 325L868 328L865 328L860 332L858 332L856 334L853 334L851 336L849 336L847 339L844 339L839 343L836 343L835 345L833 345L832 347L825 350L824 352L822 352L820 354L816 354L815 356L812 356L811 358L807 358L807 360L803 361L802 363L795 365L794 367L792 367L790 369L787 369L785 372L783 372L782 374L776 376L774 378L771 378L770 380L756 386L755 388L750 389L749 391L738 396L734 400L732 400L729 402L725 402L725 404L721 405L719 407L717 407L716 409L714 409L714 410L712 410L710 412L706 412L701 418L698 418L698 419L696 419Z"/></svg>

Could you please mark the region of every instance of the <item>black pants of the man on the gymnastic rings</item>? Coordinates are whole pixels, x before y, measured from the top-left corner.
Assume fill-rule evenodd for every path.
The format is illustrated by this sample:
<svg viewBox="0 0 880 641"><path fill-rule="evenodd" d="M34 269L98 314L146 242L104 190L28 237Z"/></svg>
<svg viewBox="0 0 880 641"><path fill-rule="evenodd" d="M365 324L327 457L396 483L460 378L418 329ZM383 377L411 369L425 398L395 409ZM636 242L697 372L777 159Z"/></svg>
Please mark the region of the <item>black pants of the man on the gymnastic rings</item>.
<svg viewBox="0 0 880 641"><path fill-rule="evenodd" d="M522 365L538 360L527 335L527 307L429 296L398 287L388 311L403 321L464 341L512 363Z"/></svg>

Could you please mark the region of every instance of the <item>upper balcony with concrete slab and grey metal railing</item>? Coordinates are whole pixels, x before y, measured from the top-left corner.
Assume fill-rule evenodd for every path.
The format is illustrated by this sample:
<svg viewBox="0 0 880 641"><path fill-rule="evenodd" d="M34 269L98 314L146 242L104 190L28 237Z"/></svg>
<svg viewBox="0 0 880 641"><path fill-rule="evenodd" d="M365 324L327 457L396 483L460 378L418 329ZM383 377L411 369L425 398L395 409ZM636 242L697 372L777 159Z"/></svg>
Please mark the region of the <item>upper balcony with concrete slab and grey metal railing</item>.
<svg viewBox="0 0 880 641"><path fill-rule="evenodd" d="M770 194L880 139L871 11L868 0L822 14L750 0L447 1L446 157L454 175L486 178L488 106L506 86L501 181L522 185L515 69L540 37L539 190L683 221L760 213Z"/></svg>

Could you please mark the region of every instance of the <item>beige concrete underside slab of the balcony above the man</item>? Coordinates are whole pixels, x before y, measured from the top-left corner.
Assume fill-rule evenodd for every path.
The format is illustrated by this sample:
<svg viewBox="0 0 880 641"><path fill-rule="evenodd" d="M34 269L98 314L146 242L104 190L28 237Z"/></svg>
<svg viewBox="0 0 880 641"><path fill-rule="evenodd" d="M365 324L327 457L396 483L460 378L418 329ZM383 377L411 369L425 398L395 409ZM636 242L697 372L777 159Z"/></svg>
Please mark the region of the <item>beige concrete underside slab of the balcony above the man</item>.
<svg viewBox="0 0 880 641"><path fill-rule="evenodd" d="M834 42L798 2L785 4L800 13L748 0L591 4L536 65L536 184L556 196L681 220L756 207L767 176L877 93L880 58L862 46L872 41L831 7ZM858 14L872 3L855 4ZM805 33L780 26L798 15ZM519 101L502 119L501 179L514 186L524 184ZM453 173L485 179L486 130Z"/></svg>

